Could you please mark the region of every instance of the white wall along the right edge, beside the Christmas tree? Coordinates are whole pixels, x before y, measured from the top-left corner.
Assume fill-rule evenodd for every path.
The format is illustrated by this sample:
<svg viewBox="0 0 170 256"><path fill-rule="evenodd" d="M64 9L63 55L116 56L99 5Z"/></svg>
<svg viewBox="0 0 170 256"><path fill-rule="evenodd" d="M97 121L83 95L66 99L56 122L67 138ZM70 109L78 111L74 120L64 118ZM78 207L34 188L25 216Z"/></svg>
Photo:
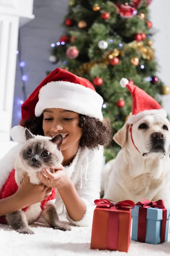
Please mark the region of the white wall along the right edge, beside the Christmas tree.
<svg viewBox="0 0 170 256"><path fill-rule="evenodd" d="M170 87L170 0L153 0L150 4L150 20L157 32L153 38L159 64L157 75ZM162 105L170 115L170 94L162 96Z"/></svg>

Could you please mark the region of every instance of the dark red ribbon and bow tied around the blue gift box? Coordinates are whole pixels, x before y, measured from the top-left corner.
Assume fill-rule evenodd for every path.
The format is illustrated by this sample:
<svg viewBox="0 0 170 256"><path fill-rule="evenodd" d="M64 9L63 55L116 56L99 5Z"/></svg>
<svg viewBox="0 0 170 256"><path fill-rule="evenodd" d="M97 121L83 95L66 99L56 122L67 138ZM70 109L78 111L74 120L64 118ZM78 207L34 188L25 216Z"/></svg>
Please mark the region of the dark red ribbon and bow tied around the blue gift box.
<svg viewBox="0 0 170 256"><path fill-rule="evenodd" d="M139 217L138 217L138 241L145 243L146 239L146 222L147 222L147 208L159 208L162 209L162 223L161 223L161 243L165 240L165 231L167 224L167 209L165 209L164 201L162 199L158 201L149 201L142 198L143 201L138 202L139 205Z"/></svg>

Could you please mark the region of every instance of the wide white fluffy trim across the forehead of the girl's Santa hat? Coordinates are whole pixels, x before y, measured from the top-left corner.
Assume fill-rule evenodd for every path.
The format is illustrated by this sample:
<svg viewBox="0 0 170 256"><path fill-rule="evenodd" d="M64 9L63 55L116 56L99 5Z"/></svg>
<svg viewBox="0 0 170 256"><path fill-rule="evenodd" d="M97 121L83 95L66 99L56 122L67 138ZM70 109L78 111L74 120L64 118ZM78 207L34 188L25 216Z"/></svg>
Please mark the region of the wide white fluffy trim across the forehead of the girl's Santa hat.
<svg viewBox="0 0 170 256"><path fill-rule="evenodd" d="M102 97L81 84L52 81L40 89L38 97L36 116L40 116L46 108L62 108L103 120Z"/></svg>

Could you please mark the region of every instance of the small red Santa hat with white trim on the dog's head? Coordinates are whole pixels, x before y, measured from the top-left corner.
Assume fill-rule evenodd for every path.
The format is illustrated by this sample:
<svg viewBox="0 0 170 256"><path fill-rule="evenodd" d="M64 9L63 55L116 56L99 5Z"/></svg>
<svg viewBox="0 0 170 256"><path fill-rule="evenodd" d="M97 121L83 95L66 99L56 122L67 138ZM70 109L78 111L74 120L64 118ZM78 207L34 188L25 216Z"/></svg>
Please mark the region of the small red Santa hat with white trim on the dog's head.
<svg viewBox="0 0 170 256"><path fill-rule="evenodd" d="M161 114L165 117L167 116L166 111L161 108L161 105L145 93L144 90L134 84L130 84L126 78L122 78L120 84L122 87L127 87L133 100L132 115L127 119L129 124L137 122L146 115Z"/></svg>

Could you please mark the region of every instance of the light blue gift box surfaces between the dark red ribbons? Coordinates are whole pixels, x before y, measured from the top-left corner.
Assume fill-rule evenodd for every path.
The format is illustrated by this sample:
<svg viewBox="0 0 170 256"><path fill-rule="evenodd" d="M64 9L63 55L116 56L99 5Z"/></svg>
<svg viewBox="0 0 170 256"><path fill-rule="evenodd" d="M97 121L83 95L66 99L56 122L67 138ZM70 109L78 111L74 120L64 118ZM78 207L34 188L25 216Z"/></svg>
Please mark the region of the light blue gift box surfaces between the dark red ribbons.
<svg viewBox="0 0 170 256"><path fill-rule="evenodd" d="M132 236L131 239L138 241L138 215L139 207L135 206L132 209ZM170 209L167 209L167 224L165 231L165 242L168 239L169 233L169 218L170 218ZM146 238L145 242L148 244L160 244L161 242L161 222L162 222L162 209L158 208L147 208L147 221L146 221Z"/></svg>

